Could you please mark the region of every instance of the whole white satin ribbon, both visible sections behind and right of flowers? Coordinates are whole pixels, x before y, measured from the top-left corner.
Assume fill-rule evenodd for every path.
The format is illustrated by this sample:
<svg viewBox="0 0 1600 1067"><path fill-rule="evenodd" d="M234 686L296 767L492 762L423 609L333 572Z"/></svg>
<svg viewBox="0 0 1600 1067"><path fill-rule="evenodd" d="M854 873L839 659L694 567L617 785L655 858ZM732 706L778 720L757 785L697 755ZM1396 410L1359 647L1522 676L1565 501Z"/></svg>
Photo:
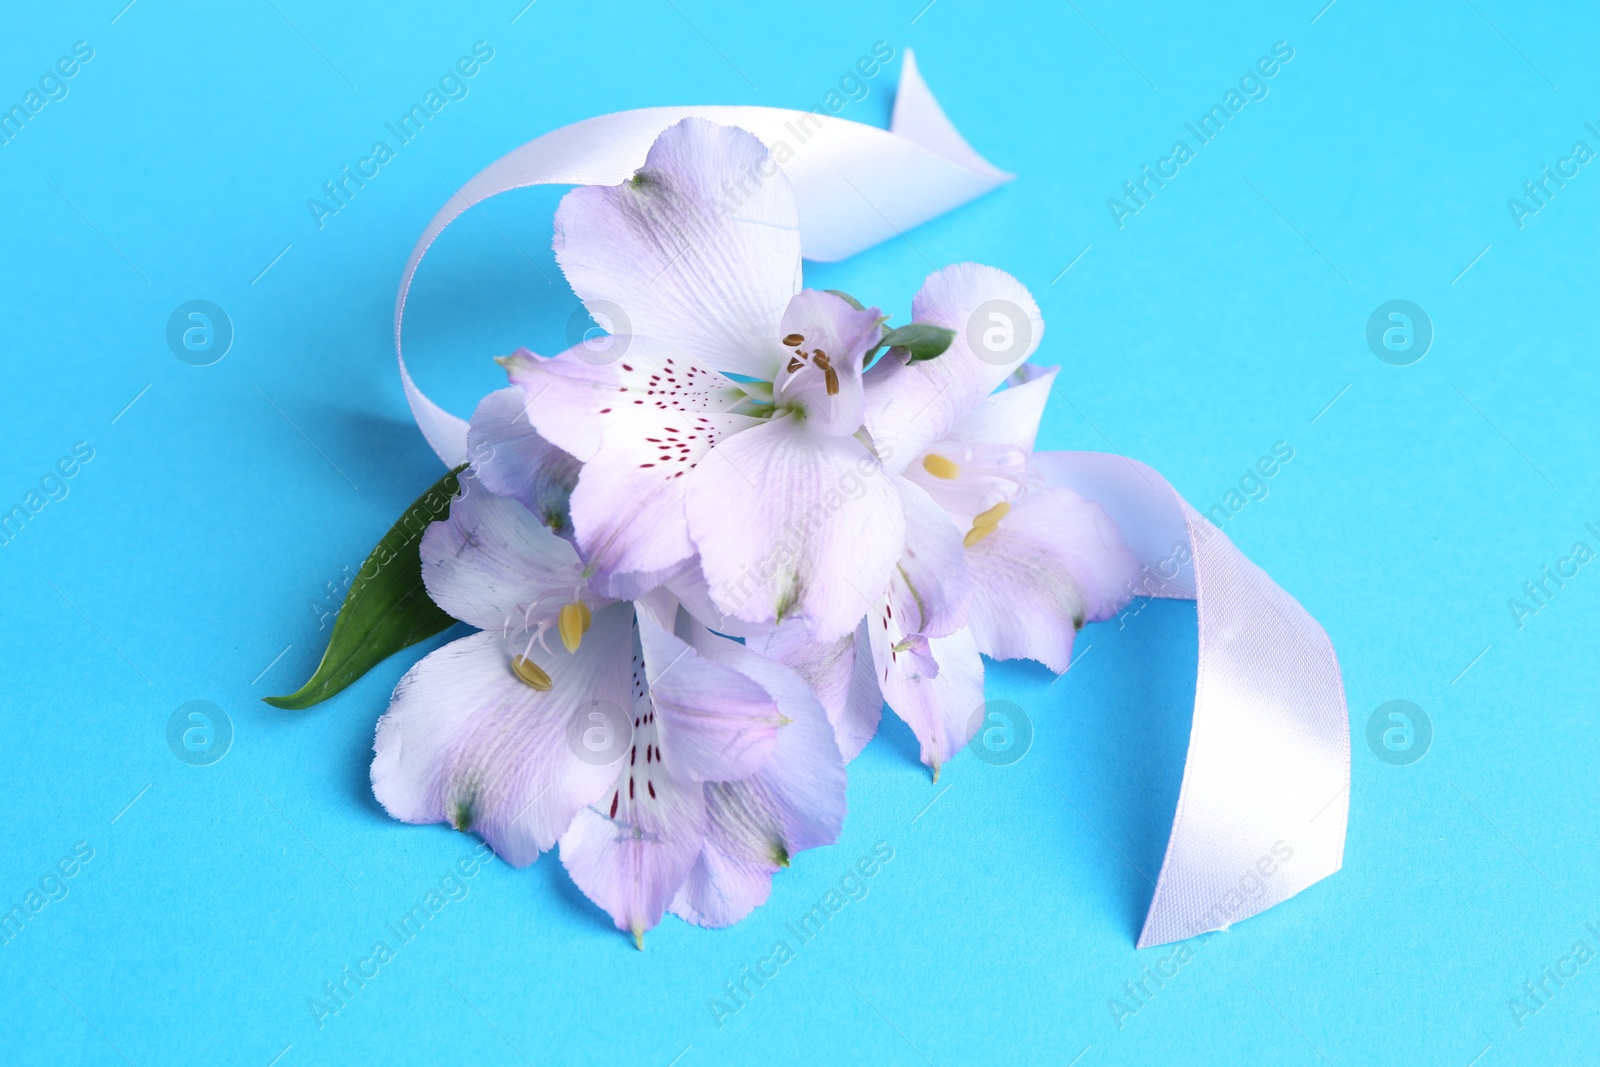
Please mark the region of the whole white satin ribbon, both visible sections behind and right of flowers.
<svg viewBox="0 0 1600 1067"><path fill-rule="evenodd" d="M774 157L800 205L806 259L837 261L1011 179L957 133L904 51L888 130L779 107L648 107L554 130L466 182L411 250L395 298L400 382L448 467L467 422L429 400L405 365L402 322L422 256L456 218L509 189L614 186L656 136L698 115L741 126ZM1146 949L1264 912L1339 870L1350 729L1328 635L1150 467L1101 453L1035 453L1046 480L1101 504L1141 565L1138 595L1194 600L1194 725L1166 856L1139 934Z"/></svg>

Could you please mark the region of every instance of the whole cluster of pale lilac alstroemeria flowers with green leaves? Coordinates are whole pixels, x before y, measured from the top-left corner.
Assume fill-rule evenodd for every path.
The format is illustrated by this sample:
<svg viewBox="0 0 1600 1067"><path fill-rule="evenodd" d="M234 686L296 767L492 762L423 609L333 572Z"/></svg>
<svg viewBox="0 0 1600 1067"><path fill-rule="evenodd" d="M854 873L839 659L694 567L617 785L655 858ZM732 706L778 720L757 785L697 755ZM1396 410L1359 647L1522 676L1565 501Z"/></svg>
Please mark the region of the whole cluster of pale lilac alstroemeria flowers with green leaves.
<svg viewBox="0 0 1600 1067"><path fill-rule="evenodd" d="M1085 622L1162 593L1126 522L1035 458L1056 370L1003 270L936 270L901 325L805 288L782 160L701 115L566 194L555 258L608 331L498 360L466 462L272 702L477 627L395 688L378 800L514 865L558 848L642 947L669 910L739 921L832 843L885 705L938 779L984 721L986 656L1066 672Z"/></svg>

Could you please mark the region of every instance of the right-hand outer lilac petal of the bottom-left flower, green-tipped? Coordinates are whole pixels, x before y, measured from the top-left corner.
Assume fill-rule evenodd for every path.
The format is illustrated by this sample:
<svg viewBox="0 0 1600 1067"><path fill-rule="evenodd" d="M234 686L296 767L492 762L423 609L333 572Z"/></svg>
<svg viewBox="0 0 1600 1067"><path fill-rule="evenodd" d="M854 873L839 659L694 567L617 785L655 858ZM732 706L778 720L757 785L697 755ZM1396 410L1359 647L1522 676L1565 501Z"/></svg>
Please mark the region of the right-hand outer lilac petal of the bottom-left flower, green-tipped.
<svg viewBox="0 0 1600 1067"><path fill-rule="evenodd" d="M696 648L749 672L792 721L766 765L738 782L706 785L706 848L672 902L701 926L728 926L766 901L789 859L838 838L845 821L845 765L834 731L805 681L782 664L701 630Z"/></svg>

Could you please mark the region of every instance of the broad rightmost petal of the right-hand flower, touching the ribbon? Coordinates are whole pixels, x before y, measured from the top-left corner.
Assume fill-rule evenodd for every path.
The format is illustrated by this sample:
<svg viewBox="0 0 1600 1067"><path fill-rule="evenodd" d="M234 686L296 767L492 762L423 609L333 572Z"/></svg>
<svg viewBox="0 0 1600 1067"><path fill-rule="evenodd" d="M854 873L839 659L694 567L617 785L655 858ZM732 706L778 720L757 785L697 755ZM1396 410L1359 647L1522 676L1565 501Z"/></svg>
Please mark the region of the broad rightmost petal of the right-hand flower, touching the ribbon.
<svg viewBox="0 0 1600 1067"><path fill-rule="evenodd" d="M1072 662L1083 622L1120 611L1139 573L1104 509L1061 488L1018 498L966 549L966 566L978 648L995 659L1037 659L1056 673Z"/></svg>

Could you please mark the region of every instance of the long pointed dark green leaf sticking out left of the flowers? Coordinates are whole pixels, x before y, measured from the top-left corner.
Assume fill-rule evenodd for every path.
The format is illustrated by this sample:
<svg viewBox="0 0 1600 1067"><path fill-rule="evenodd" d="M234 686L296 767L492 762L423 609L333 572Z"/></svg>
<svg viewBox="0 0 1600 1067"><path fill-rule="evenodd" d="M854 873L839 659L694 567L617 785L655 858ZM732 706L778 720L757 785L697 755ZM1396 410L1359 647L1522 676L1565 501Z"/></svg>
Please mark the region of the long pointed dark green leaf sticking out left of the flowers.
<svg viewBox="0 0 1600 1067"><path fill-rule="evenodd" d="M362 565L339 608L328 649L310 680L288 696L262 697L272 707L301 710L326 701L379 662L454 625L422 587L422 531L450 515L461 464L419 496Z"/></svg>

